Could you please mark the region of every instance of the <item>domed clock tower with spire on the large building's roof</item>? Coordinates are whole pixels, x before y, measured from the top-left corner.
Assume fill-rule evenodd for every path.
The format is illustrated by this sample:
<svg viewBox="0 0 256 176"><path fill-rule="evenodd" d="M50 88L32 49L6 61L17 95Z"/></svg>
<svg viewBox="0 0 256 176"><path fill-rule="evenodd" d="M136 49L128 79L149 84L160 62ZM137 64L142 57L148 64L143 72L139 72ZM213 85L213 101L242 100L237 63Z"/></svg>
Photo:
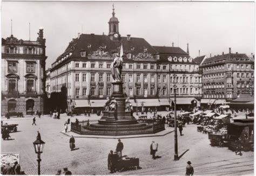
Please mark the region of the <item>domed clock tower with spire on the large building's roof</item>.
<svg viewBox="0 0 256 176"><path fill-rule="evenodd" d="M114 16L114 4L113 4L113 12L112 17L109 20L109 37L111 40L118 41L119 39L119 30L118 30L118 19Z"/></svg>

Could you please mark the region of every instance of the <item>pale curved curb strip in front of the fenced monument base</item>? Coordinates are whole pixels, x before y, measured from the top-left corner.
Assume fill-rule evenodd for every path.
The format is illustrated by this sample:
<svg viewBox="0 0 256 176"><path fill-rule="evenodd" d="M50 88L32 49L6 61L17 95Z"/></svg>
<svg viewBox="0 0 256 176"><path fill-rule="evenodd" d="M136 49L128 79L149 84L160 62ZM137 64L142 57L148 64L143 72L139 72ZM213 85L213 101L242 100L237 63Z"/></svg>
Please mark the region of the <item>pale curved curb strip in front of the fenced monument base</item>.
<svg viewBox="0 0 256 176"><path fill-rule="evenodd" d="M144 136L140 136L140 135L127 135L127 136L103 136L103 135L79 135L75 132L76 135L79 135L79 136L75 136L75 135L71 135L69 134L69 132L71 131L68 131L68 132L65 132L65 130L63 131L60 131L60 133L63 133L64 135L66 136L73 136L75 138L99 138L99 139L128 139L128 138L141 138L141 137L158 137L158 136L165 136L165 135L168 135L169 133L172 133L174 130L172 131L166 131L163 135L156 135L157 133L154 133L154 134L143 134ZM163 131L160 131L160 132L163 132Z"/></svg>

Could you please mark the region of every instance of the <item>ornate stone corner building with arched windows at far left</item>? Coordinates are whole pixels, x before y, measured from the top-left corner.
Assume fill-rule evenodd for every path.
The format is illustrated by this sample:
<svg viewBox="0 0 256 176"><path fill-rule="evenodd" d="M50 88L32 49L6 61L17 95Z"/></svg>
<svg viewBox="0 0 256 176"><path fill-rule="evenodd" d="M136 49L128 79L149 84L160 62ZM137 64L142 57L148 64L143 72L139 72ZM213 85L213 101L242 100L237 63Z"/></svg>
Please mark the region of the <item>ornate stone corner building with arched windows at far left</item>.
<svg viewBox="0 0 256 176"><path fill-rule="evenodd" d="M18 40L12 34L2 38L2 115L43 113L45 47L43 29L36 41Z"/></svg>

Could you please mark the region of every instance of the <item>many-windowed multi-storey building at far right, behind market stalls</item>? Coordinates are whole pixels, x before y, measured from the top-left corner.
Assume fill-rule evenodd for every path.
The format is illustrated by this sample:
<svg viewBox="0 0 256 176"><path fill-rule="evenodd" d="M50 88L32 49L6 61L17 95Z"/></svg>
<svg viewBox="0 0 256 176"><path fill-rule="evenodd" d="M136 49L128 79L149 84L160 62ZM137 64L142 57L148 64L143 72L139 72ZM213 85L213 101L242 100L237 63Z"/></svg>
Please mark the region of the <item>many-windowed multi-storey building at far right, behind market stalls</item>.
<svg viewBox="0 0 256 176"><path fill-rule="evenodd" d="M231 101L241 94L249 94L250 82L254 80L254 61L246 54L229 53L205 59L203 69L203 98L205 103L220 99Z"/></svg>

